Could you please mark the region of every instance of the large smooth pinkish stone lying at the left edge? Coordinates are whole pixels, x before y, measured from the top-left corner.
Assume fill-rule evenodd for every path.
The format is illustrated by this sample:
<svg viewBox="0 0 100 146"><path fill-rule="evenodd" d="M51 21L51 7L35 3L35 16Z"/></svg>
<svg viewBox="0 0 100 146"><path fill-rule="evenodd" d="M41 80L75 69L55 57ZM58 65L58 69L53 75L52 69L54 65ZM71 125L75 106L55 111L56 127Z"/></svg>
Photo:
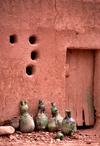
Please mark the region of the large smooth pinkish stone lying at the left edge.
<svg viewBox="0 0 100 146"><path fill-rule="evenodd" d="M15 129L12 126L0 126L0 135L13 134Z"/></svg>

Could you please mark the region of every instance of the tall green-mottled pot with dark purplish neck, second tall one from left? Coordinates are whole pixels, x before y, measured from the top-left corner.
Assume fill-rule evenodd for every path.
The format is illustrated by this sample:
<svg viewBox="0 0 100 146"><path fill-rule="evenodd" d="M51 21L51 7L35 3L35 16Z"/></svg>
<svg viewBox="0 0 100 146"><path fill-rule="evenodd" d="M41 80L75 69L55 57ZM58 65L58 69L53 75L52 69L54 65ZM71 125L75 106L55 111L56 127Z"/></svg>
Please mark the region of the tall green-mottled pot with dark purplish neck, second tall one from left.
<svg viewBox="0 0 100 146"><path fill-rule="evenodd" d="M48 115L45 114L45 106L42 100L39 100L38 115L35 118L36 130L44 131L48 126Z"/></svg>

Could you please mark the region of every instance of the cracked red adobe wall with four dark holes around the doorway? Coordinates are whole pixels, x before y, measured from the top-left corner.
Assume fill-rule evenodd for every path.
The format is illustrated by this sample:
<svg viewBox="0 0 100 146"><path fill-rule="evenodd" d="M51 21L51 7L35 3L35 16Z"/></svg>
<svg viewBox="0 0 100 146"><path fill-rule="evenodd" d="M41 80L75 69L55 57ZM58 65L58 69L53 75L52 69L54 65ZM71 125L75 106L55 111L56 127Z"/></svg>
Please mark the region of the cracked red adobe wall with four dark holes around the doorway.
<svg viewBox="0 0 100 146"><path fill-rule="evenodd" d="M15 43L10 36L16 35ZM29 43L30 36L36 42ZM0 123L20 115L19 102L37 113L44 101L51 116L55 102L64 117L67 48L95 49L94 107L100 118L100 1L25 0L0 1ZM37 58L31 59L31 52ZM31 76L26 67L33 65ZM98 122L99 120L97 120Z"/></svg>

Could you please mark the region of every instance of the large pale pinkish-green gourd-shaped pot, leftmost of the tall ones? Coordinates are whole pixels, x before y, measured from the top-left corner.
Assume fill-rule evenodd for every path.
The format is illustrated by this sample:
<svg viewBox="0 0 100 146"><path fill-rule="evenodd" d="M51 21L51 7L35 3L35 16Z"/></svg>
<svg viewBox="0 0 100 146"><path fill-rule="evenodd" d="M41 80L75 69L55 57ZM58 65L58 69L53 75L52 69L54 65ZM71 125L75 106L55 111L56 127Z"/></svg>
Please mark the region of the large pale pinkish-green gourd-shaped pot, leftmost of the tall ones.
<svg viewBox="0 0 100 146"><path fill-rule="evenodd" d="M28 105L25 101L20 103L22 116L19 118L19 125L21 132L32 132L35 129L33 116L28 113Z"/></svg>

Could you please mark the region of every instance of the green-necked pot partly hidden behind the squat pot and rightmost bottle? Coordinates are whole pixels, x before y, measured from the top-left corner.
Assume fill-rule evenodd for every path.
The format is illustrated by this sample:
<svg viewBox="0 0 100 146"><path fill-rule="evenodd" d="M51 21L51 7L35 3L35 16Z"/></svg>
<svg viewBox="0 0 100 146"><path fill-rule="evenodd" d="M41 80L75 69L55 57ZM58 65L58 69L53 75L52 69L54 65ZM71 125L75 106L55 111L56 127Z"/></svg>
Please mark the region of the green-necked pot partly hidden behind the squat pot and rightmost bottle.
<svg viewBox="0 0 100 146"><path fill-rule="evenodd" d="M57 107L55 107L55 104L53 102L51 103L51 105L52 105L52 107L51 107L52 117L56 118L57 124L58 124L58 130L61 130L63 117L60 116L58 109L57 109Z"/></svg>

